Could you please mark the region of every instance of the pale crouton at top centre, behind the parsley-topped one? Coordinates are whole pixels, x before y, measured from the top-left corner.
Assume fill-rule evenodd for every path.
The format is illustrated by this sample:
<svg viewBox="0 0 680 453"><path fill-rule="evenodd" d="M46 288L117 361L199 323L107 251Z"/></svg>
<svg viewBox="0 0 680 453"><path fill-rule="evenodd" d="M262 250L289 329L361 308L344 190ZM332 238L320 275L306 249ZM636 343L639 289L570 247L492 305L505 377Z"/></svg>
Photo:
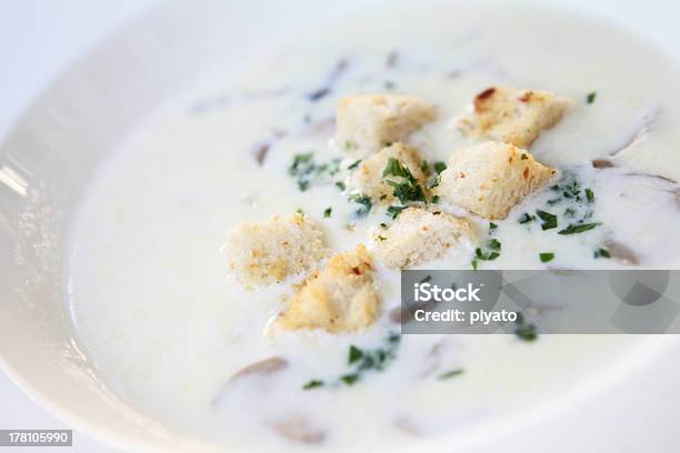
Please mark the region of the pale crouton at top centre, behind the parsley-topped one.
<svg viewBox="0 0 680 453"><path fill-rule="evenodd" d="M337 140L359 155L370 155L434 120L434 105L412 95L360 94L338 103Z"/></svg>

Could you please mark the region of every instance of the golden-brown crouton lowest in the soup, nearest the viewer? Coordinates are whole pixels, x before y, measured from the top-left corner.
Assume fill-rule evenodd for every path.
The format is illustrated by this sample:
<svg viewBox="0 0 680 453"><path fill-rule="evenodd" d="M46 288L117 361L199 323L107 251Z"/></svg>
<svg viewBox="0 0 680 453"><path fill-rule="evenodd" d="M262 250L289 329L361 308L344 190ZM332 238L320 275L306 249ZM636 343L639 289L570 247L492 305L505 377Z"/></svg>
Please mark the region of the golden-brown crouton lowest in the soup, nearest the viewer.
<svg viewBox="0 0 680 453"><path fill-rule="evenodd" d="M296 290L274 326L350 332L372 324L380 310L373 289L373 258L363 245L334 255Z"/></svg>

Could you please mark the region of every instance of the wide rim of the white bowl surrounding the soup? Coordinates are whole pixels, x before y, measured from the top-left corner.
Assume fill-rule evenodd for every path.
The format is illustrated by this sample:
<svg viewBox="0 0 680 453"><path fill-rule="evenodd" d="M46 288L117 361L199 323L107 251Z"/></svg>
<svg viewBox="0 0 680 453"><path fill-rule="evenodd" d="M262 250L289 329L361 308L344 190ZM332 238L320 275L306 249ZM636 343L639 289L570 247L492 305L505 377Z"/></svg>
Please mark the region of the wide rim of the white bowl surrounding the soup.
<svg viewBox="0 0 680 453"><path fill-rule="evenodd" d="M130 24L74 64L43 93L0 148L0 363L49 411L73 427L126 450L207 447L183 439L120 402L98 381L71 336L63 232L94 169L171 93L220 64L243 64L249 52L307 21L382 3L250 0L172 2ZM554 0L649 37L680 57L680 6L670 1ZM243 46L242 43L248 43ZM668 450L680 407L676 338L592 382L579 395L512 425L488 426L441 450Z"/></svg>

